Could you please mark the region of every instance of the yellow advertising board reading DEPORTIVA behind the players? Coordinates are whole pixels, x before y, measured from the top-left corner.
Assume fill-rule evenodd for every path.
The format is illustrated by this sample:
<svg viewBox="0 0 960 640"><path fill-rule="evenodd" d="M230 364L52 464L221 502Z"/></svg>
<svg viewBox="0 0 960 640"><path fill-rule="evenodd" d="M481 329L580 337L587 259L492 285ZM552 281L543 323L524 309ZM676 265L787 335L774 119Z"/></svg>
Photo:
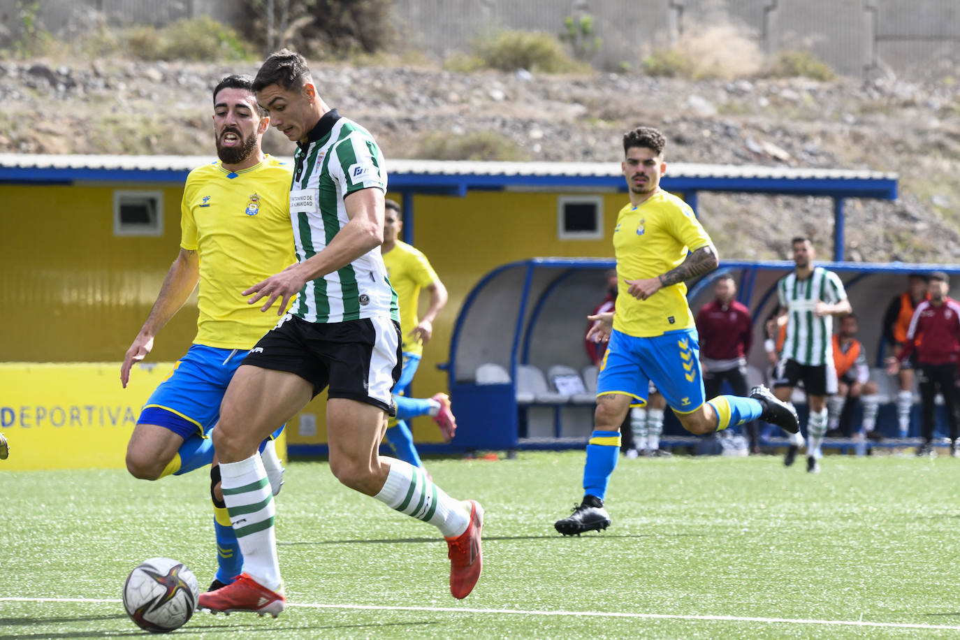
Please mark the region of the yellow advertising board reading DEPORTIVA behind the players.
<svg viewBox="0 0 960 640"><path fill-rule="evenodd" d="M123 389L120 363L0 364L0 431L10 442L0 471L125 468L140 408L171 370L134 367ZM276 453L286 459L283 436Z"/></svg>

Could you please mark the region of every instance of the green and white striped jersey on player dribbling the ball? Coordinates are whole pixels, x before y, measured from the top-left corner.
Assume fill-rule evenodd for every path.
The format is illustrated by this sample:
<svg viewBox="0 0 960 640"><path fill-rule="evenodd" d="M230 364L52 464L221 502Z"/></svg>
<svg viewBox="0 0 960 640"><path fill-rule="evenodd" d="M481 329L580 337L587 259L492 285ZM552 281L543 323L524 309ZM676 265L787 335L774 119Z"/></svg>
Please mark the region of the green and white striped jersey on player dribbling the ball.
<svg viewBox="0 0 960 640"><path fill-rule="evenodd" d="M294 154L290 219L300 262L323 250L349 222L344 199L360 189L387 190L383 154L368 130L328 111ZM399 321L396 292L380 248L347 266L310 280L291 313L309 322L342 322L389 316Z"/></svg>

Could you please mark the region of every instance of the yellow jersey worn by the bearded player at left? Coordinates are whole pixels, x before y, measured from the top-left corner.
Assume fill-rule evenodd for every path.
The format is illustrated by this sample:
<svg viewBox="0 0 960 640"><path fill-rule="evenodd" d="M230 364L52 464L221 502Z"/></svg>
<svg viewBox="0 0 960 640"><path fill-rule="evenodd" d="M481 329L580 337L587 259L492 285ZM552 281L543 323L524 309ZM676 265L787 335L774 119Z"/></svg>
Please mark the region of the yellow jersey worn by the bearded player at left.
<svg viewBox="0 0 960 640"><path fill-rule="evenodd" d="M195 344L249 349L276 325L240 292L297 261L290 167L267 155L231 173L220 161L190 172L180 203L180 247L200 258Z"/></svg>

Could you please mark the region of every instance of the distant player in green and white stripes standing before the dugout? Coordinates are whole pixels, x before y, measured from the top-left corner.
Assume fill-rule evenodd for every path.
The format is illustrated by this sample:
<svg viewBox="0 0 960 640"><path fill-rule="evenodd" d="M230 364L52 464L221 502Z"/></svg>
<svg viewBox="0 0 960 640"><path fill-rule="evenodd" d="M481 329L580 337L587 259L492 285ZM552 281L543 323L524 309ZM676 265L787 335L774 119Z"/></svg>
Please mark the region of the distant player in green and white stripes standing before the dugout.
<svg viewBox="0 0 960 640"><path fill-rule="evenodd" d="M837 391L833 368L833 316L852 313L840 276L813 264L816 250L808 238L791 241L796 269L780 279L777 296L780 315L786 315L786 339L774 373L774 395L789 401L800 381L804 382L809 418L806 432L806 470L817 473L823 456L821 445L827 433L827 397ZM783 463L793 464L804 445L799 433L790 437Z"/></svg>

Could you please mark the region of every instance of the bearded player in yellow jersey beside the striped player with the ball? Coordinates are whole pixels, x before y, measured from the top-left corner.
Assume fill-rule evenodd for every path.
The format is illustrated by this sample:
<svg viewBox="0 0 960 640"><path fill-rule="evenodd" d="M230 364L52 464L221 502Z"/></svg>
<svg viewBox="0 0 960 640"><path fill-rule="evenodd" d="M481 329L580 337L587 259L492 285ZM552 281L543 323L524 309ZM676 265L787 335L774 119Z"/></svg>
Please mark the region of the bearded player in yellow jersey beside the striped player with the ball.
<svg viewBox="0 0 960 640"><path fill-rule="evenodd" d="M276 323L240 295L251 282L296 261L290 226L292 172L260 150L269 124L256 104L252 78L228 76L213 90L220 161L194 169L186 179L180 254L120 369L126 387L133 363L150 353L156 333L199 282L197 337L143 407L127 446L127 468L136 478L156 480L213 461L209 432L220 417L230 378ZM265 440L261 452L276 493L283 469L273 442ZM220 492L219 466L211 468L210 477L218 551L210 588L215 589L240 574L243 558Z"/></svg>

